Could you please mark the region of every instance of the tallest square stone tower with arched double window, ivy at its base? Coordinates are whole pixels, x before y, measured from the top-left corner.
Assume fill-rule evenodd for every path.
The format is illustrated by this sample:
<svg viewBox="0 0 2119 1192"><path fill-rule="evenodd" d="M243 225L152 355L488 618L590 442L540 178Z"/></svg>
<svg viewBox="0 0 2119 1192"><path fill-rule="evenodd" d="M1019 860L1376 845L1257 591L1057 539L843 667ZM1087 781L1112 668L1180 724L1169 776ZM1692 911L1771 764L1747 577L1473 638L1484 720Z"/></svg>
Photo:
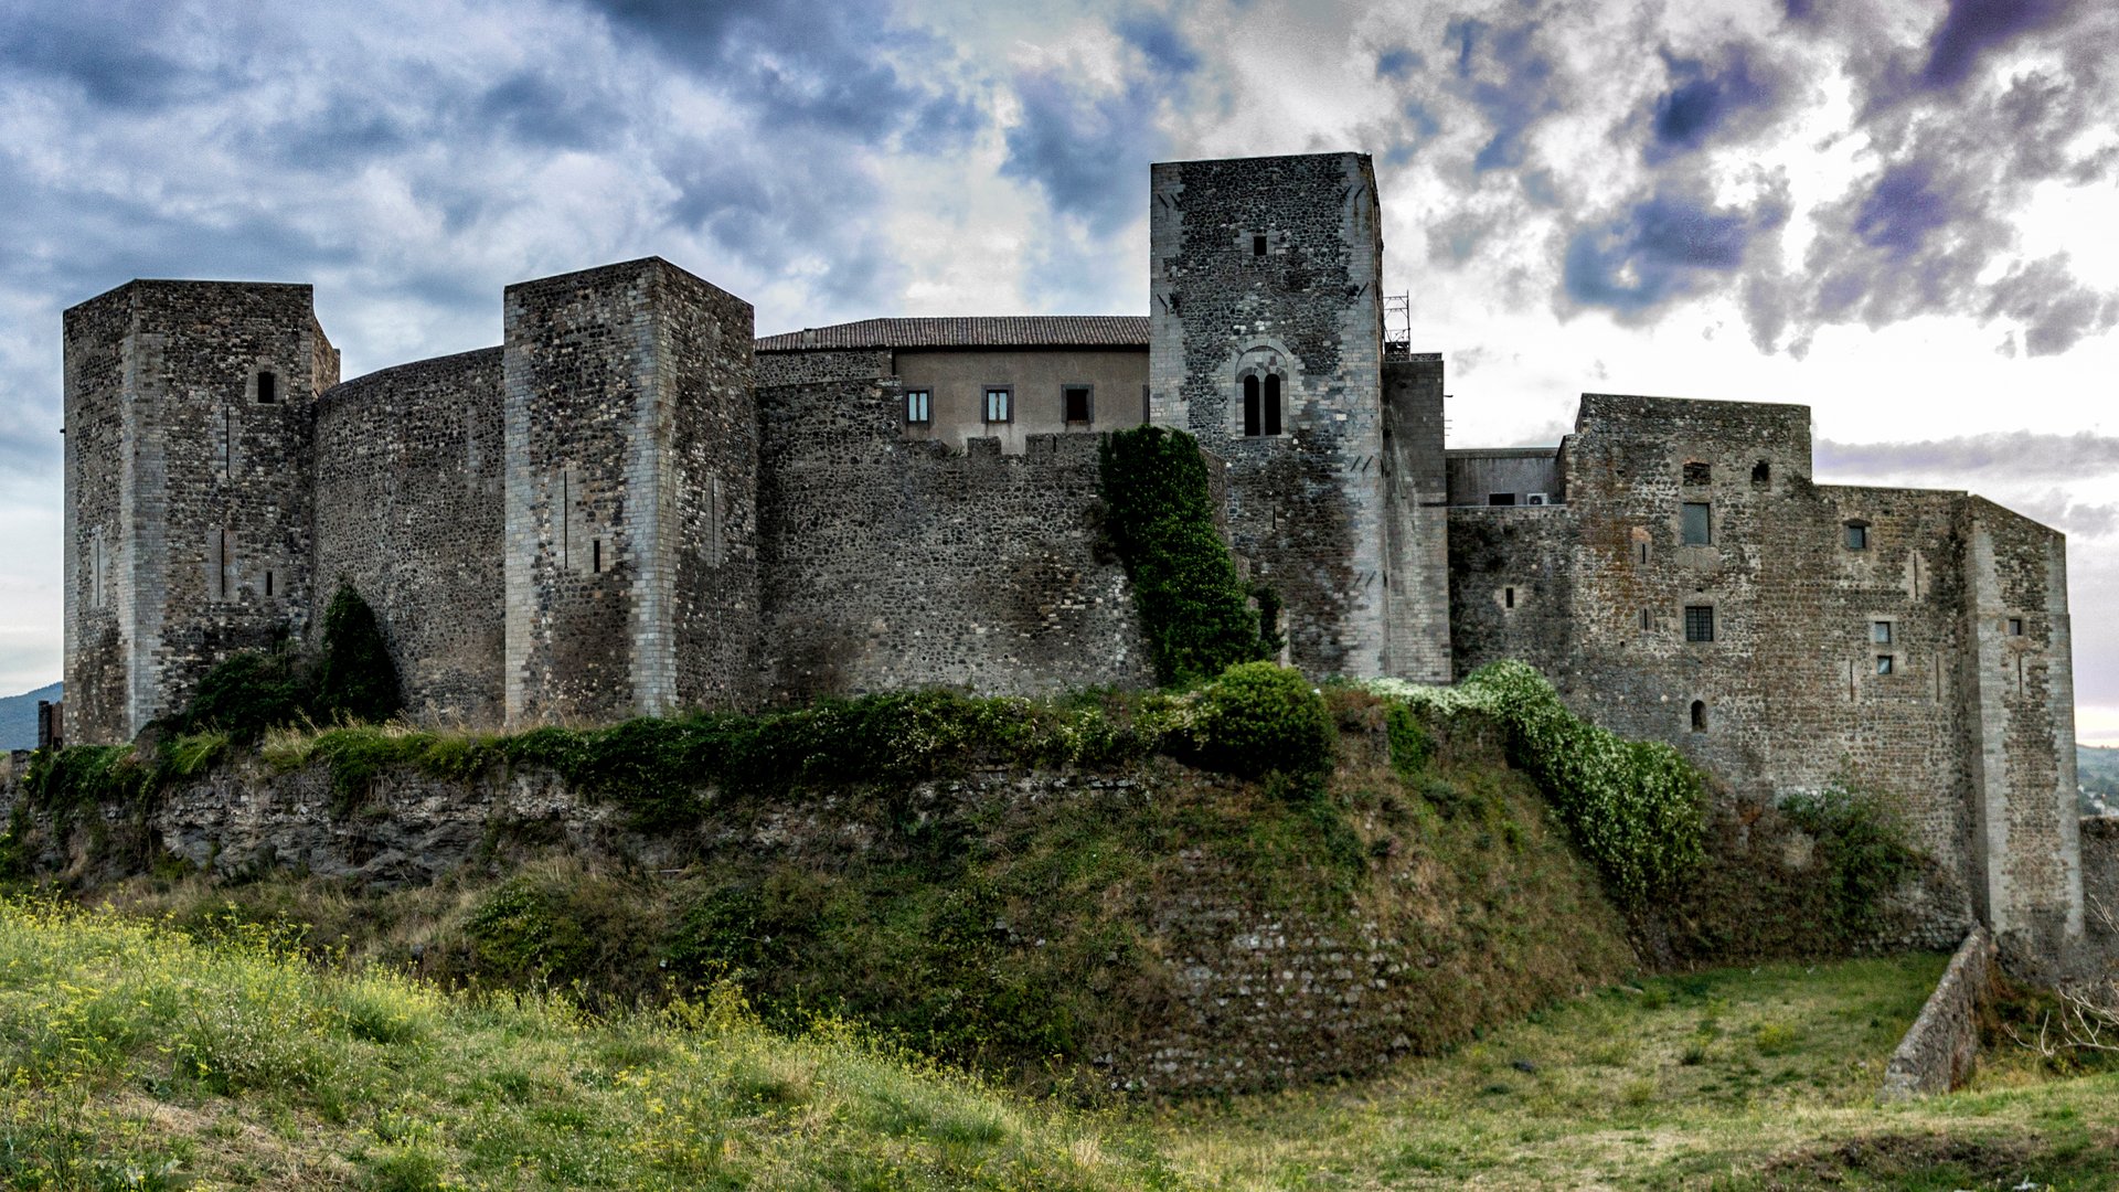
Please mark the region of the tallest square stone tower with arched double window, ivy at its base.
<svg viewBox="0 0 2119 1192"><path fill-rule="evenodd" d="M1363 153L1159 161L1148 420L1229 464L1229 532L1290 662L1384 674L1384 240Z"/></svg>

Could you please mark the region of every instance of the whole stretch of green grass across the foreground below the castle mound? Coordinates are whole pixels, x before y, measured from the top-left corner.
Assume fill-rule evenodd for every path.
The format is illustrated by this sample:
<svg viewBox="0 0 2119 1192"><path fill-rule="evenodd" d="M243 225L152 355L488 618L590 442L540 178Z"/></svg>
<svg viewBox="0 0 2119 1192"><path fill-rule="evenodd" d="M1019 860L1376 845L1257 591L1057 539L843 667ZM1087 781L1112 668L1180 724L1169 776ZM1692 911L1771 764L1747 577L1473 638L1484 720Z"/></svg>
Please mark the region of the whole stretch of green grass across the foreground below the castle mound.
<svg viewBox="0 0 2119 1192"><path fill-rule="evenodd" d="M2119 1077L1871 1097L1939 957L1657 978L1339 1088L1087 1116L841 1033L0 904L11 1188L2111 1188ZM1521 1060L1521 1063L1519 1063ZM2007 1060L2007 1056L2005 1056ZM1524 1071L1528 1065L1532 1071Z"/></svg>

